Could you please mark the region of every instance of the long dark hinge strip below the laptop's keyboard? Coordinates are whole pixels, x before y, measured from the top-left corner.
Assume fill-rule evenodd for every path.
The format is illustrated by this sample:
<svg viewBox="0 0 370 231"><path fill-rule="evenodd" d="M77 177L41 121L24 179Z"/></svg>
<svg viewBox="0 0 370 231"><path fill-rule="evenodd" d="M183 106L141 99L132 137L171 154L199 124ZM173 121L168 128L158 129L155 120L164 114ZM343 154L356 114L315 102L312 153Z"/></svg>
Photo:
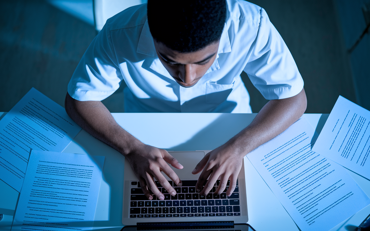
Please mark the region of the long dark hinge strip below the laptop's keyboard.
<svg viewBox="0 0 370 231"><path fill-rule="evenodd" d="M192 222L142 222L137 223L137 230L155 230L161 228L193 229L199 228L234 228L234 221L192 221Z"/></svg>

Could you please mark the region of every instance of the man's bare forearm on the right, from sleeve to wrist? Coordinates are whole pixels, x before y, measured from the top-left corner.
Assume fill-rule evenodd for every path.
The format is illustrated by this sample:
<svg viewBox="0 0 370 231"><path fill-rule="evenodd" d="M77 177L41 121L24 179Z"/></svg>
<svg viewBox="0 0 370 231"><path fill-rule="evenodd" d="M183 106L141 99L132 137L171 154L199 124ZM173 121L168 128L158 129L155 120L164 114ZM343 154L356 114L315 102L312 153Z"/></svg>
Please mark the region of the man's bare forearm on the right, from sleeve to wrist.
<svg viewBox="0 0 370 231"><path fill-rule="evenodd" d="M260 110L252 123L232 137L233 145L242 156L285 131L306 111L305 89L293 97L270 100Z"/></svg>

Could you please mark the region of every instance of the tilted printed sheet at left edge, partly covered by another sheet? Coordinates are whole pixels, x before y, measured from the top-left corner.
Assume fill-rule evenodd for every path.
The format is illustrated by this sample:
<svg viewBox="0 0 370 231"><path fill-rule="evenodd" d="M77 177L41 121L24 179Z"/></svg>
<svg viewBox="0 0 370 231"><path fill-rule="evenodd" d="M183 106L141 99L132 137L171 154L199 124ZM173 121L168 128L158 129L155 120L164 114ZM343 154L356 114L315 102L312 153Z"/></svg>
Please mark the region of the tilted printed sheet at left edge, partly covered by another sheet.
<svg viewBox="0 0 370 231"><path fill-rule="evenodd" d="M65 109L32 88L0 120L0 178L22 188L31 149L61 152L81 128Z"/></svg>

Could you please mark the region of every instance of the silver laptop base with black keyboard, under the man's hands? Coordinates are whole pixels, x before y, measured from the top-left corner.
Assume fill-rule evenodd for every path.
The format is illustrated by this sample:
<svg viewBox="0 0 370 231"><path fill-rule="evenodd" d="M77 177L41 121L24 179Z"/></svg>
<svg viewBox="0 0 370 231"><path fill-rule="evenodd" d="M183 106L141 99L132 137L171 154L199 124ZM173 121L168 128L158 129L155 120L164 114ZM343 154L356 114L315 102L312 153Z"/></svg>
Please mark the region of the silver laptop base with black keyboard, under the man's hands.
<svg viewBox="0 0 370 231"><path fill-rule="evenodd" d="M209 151L194 152L169 152L179 163L184 166L183 169L175 169L170 166L182 181L182 186L176 186L167 176L166 179L176 190L176 195L171 196L158 181L159 190L165 196L165 200L159 200L154 195L152 200L148 200L142 193L139 181L132 171L128 160L125 160L124 170L124 194L122 207L122 224L137 225L144 223L169 224L172 222L199 221L202 224L209 222L229 221L232 223L248 222L248 210L245 191L245 172L244 160L240 170L236 188L230 197L226 196L225 191L220 195L213 192L219 184L219 180L210 193L206 196L199 195L195 190L195 184L200 173L193 175L191 171L196 164Z"/></svg>

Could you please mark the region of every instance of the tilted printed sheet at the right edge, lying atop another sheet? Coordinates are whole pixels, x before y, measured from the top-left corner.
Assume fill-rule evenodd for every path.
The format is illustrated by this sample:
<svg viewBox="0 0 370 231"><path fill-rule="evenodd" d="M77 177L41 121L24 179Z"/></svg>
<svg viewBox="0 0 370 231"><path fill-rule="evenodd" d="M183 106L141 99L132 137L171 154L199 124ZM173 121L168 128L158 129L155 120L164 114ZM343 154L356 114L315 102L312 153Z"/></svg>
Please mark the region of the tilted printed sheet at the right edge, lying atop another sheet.
<svg viewBox="0 0 370 231"><path fill-rule="evenodd" d="M339 96L312 150L370 179L370 111Z"/></svg>

